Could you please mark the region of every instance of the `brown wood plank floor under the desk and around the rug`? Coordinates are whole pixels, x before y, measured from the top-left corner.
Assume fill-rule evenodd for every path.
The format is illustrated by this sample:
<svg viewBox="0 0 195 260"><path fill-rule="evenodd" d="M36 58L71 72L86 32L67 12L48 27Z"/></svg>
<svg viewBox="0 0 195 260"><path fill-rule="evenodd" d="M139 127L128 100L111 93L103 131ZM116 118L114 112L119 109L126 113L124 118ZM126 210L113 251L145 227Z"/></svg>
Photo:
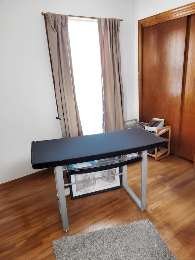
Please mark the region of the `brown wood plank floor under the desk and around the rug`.
<svg viewBox="0 0 195 260"><path fill-rule="evenodd" d="M69 231L62 229L53 169L0 185L0 259L56 259L52 241L149 219L173 254L195 259L195 172L193 162L148 156L147 210L141 212L121 188L71 200ZM128 166L128 184L139 197L140 162ZM87 260L87 259L86 259Z"/></svg>

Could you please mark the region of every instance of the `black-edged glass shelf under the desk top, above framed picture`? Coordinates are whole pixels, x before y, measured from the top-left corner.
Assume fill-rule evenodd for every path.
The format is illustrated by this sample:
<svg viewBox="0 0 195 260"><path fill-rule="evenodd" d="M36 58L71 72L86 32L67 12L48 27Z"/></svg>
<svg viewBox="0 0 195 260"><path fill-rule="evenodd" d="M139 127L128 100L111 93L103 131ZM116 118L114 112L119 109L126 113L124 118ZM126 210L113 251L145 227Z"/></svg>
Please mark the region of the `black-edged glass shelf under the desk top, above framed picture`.
<svg viewBox="0 0 195 260"><path fill-rule="evenodd" d="M139 156L138 154L133 157L121 155L111 158L95 160L93 162L90 162L91 165L87 167L73 168L73 165L67 165L66 167L69 174L80 174L112 169L139 161L141 161L141 156Z"/></svg>

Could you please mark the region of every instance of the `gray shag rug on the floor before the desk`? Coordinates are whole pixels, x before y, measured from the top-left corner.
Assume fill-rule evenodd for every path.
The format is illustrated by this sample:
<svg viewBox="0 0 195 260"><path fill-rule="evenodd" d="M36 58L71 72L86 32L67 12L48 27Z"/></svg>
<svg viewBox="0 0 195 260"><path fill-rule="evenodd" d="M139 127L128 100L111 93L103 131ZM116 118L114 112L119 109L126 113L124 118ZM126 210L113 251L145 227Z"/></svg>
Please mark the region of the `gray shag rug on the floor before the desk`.
<svg viewBox="0 0 195 260"><path fill-rule="evenodd" d="M176 260L148 219L53 241L57 260Z"/></svg>

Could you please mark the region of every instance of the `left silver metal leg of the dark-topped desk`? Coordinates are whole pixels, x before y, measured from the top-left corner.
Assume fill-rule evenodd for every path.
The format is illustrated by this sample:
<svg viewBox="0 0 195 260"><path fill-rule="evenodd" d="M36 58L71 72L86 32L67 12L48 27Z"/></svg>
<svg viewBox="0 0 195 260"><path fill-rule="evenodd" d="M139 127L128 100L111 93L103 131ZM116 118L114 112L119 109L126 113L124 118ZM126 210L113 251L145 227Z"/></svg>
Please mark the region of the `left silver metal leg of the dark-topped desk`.
<svg viewBox="0 0 195 260"><path fill-rule="evenodd" d="M62 166L54 167L54 173L55 173L56 189L57 189L60 214L61 214L61 218L62 218L63 230L65 232L67 232L69 230L69 225L68 225L66 195L65 195Z"/></svg>

